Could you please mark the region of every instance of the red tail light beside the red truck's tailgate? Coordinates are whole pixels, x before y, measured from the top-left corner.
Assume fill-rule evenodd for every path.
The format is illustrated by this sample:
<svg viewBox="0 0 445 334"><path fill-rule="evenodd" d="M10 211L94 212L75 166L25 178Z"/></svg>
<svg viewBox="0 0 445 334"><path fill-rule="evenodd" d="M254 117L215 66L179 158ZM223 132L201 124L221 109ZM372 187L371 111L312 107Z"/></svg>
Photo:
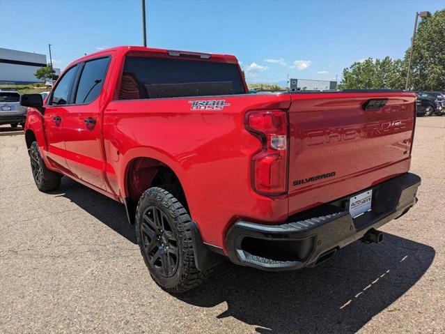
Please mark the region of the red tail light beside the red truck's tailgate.
<svg viewBox="0 0 445 334"><path fill-rule="evenodd" d="M263 143L251 162L253 189L262 195L281 195L287 188L288 121L281 110L258 110L246 115L246 128Z"/></svg>

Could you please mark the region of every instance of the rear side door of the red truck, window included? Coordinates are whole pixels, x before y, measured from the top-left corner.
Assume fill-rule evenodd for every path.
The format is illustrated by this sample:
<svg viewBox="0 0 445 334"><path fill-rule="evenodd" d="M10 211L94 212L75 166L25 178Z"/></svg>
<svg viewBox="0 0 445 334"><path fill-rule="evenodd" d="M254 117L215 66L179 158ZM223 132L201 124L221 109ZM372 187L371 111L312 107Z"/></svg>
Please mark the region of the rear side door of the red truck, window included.
<svg viewBox="0 0 445 334"><path fill-rule="evenodd" d="M110 56L100 56L79 63L70 106L63 116L63 137L70 172L81 181L104 190L100 93L110 59Z"/></svg>

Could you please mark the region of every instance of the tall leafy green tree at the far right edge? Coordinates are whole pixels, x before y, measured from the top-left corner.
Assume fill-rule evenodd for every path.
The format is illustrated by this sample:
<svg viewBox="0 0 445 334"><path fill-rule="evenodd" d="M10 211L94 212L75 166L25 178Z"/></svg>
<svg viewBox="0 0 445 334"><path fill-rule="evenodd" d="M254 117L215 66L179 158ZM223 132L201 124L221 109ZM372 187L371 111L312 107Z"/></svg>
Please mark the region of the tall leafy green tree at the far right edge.
<svg viewBox="0 0 445 334"><path fill-rule="evenodd" d="M409 48L405 53L405 61L410 51ZM419 23L412 52L409 88L445 91L445 9Z"/></svg>

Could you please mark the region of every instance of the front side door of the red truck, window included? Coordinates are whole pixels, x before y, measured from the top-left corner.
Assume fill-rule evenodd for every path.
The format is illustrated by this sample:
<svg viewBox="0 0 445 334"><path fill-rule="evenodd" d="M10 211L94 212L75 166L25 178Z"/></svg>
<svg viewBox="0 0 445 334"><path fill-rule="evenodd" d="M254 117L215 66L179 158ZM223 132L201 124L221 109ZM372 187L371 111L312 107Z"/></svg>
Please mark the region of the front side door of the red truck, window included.
<svg viewBox="0 0 445 334"><path fill-rule="evenodd" d="M68 165L65 160L65 142L63 142L63 125L70 101L72 85L77 75L78 66L68 69L47 99L45 105L46 145L45 155L49 162L58 169L66 170Z"/></svg>

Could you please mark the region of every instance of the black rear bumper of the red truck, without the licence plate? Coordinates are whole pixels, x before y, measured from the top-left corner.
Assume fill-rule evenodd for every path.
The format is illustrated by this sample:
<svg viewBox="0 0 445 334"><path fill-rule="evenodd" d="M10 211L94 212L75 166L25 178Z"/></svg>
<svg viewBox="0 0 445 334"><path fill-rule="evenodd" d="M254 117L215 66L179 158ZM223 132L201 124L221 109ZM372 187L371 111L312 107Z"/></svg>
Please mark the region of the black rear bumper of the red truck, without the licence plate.
<svg viewBox="0 0 445 334"><path fill-rule="evenodd" d="M228 256L235 264L267 271L317 264L323 255L406 213L417 202L420 184L419 176L407 173L369 188L371 211L357 218L348 212L349 199L364 190L293 215L282 225L236 222L226 236Z"/></svg>

